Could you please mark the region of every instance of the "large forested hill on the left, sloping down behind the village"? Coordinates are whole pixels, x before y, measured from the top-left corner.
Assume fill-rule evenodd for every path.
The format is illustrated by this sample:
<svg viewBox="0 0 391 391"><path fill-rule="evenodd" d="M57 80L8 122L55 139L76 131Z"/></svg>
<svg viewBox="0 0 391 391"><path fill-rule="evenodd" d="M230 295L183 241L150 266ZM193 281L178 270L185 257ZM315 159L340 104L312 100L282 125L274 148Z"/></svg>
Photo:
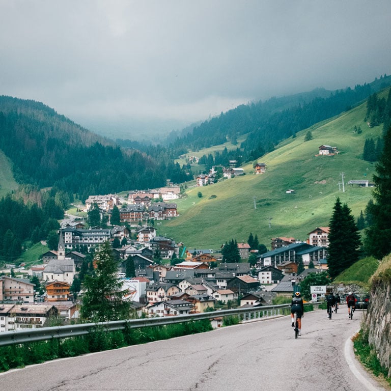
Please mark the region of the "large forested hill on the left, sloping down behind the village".
<svg viewBox="0 0 391 391"><path fill-rule="evenodd" d="M55 186L81 201L187 180L166 154L123 150L47 106L16 98L0 97L0 149L12 161L17 182Z"/></svg>

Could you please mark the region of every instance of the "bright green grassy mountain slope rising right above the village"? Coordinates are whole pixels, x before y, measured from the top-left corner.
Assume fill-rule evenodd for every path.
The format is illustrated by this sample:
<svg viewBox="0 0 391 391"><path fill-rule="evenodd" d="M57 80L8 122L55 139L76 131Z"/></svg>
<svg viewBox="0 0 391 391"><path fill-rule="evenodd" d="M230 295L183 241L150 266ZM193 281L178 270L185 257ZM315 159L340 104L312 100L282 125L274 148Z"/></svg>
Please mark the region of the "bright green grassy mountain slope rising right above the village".
<svg viewBox="0 0 391 391"><path fill-rule="evenodd" d="M361 104L316 124L310 128L313 139L308 142L304 142L307 129L298 132L258 160L267 165L264 175L255 175L251 162L243 166L247 174L243 177L188 189L188 197L178 202L181 216L163 222L159 233L181 240L189 248L217 249L232 238L246 241L252 232L269 248L273 237L306 240L316 227L328 226L337 197L357 217L371 199L372 189L347 183L372 178L374 164L361 159L362 151L365 139L376 139L382 131L382 126L369 128L365 115L366 104ZM354 133L354 126L362 133ZM340 153L315 156L322 144L336 146ZM287 189L296 193L286 194ZM210 199L211 195L216 197Z"/></svg>

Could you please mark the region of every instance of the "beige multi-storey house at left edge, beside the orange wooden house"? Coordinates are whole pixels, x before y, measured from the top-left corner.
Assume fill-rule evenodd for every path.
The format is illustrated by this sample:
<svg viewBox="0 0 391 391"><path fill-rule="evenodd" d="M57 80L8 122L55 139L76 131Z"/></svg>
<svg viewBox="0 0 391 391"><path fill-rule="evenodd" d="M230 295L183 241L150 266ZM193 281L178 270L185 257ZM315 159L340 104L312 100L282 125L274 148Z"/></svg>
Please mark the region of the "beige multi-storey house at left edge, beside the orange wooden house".
<svg viewBox="0 0 391 391"><path fill-rule="evenodd" d="M1 276L0 302L34 303L34 284L22 278Z"/></svg>

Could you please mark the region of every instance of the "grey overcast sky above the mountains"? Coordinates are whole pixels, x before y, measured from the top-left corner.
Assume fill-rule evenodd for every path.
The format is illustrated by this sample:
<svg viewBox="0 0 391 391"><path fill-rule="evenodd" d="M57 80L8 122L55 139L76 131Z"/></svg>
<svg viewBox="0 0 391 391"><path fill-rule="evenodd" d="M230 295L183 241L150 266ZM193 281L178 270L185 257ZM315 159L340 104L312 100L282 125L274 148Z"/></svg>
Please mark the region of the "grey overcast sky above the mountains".
<svg viewBox="0 0 391 391"><path fill-rule="evenodd" d="M391 1L0 0L0 44L1 95L166 131L390 74Z"/></svg>

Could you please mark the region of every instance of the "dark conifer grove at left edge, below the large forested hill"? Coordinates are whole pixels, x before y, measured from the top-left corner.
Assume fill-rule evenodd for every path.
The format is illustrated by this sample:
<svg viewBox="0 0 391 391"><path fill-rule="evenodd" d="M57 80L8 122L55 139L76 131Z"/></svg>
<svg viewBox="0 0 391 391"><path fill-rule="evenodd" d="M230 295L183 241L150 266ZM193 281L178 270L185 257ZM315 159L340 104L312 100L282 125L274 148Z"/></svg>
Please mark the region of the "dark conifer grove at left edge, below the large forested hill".
<svg viewBox="0 0 391 391"><path fill-rule="evenodd" d="M14 262L25 242L46 240L50 232L60 228L58 220L64 217L64 209L56 202L55 191L42 192L33 202L25 202L16 193L0 200L1 261Z"/></svg>

